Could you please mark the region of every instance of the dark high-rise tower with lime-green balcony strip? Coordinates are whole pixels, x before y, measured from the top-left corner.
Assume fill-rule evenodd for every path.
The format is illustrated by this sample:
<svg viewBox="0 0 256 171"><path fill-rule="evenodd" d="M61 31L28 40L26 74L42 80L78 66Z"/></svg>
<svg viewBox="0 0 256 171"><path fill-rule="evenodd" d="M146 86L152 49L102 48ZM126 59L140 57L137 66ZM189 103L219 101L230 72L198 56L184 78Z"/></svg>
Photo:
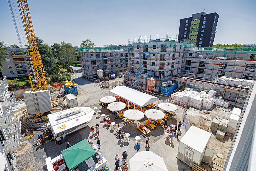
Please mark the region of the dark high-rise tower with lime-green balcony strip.
<svg viewBox="0 0 256 171"><path fill-rule="evenodd" d="M196 47L212 47L219 15L204 12L192 14L192 17L181 19L179 40L195 42Z"/></svg>

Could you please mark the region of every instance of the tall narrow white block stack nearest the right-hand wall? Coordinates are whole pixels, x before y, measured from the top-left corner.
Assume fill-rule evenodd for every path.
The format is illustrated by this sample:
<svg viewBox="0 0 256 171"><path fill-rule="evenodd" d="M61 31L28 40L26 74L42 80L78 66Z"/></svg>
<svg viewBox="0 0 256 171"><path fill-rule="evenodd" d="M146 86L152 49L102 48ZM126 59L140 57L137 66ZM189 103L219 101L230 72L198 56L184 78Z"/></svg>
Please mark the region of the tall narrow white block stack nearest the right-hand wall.
<svg viewBox="0 0 256 171"><path fill-rule="evenodd" d="M235 133L240 114L241 114L241 109L239 109L239 108L233 109L232 114L230 115L229 120L228 120L227 132L232 133L232 134Z"/></svg>

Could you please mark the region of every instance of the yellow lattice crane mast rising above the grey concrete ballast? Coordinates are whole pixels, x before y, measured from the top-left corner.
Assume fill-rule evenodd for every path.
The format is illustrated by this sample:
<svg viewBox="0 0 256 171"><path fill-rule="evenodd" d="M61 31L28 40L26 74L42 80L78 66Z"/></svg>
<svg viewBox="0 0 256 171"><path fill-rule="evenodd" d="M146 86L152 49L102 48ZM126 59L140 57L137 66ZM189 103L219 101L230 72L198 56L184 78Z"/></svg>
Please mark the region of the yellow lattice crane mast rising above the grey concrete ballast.
<svg viewBox="0 0 256 171"><path fill-rule="evenodd" d="M32 60L32 64L35 70L35 76L37 79L37 90L47 90L47 82L45 77L45 71L42 63L41 54L39 53L35 32L30 17L29 7L27 0L18 0L22 21L24 24L26 36L29 44L29 56ZM31 85L33 87L33 85Z"/></svg>

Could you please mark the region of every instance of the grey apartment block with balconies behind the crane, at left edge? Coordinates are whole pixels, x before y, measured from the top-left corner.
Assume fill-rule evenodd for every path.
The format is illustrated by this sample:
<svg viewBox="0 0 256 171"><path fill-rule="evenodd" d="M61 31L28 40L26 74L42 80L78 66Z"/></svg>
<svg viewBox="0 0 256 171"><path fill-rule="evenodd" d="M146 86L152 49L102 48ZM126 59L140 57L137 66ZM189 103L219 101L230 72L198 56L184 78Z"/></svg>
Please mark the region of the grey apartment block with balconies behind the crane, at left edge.
<svg viewBox="0 0 256 171"><path fill-rule="evenodd" d="M26 77L28 76L26 57L22 54L21 48L7 49L8 55L2 62L2 75L6 78Z"/></svg>

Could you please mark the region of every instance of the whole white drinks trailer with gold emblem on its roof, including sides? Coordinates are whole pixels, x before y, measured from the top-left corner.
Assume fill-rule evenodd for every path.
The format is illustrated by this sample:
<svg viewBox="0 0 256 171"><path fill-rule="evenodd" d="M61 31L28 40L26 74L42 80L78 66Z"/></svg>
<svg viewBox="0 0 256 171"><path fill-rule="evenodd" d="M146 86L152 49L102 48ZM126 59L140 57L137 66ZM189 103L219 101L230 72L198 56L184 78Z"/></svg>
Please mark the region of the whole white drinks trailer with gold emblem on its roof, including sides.
<svg viewBox="0 0 256 171"><path fill-rule="evenodd" d="M93 114L94 110L90 107L77 106L47 115L49 119L47 126L52 129L53 133L69 134L86 127Z"/></svg>

